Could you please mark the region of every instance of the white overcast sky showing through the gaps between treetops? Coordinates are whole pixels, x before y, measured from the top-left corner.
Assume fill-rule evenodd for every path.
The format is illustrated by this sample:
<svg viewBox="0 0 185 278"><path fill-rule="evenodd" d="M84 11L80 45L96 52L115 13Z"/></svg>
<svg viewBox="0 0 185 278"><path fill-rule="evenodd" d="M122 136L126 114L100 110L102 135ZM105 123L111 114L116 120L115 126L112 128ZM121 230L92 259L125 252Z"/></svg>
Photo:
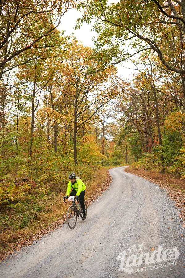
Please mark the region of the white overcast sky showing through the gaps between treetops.
<svg viewBox="0 0 185 278"><path fill-rule="evenodd" d="M97 33L91 30L93 24L88 25L84 23L80 29L74 29L74 26L76 25L76 19L78 19L80 15L80 11L77 11L76 9L68 10L62 17L60 30L65 30L65 35L71 35L74 33L76 38L80 40L84 46L93 46L93 37L97 36ZM129 67L134 68L131 62L123 62L121 65L117 65L118 74L124 79L132 79L132 74L135 74L136 70L130 70L128 69Z"/></svg>

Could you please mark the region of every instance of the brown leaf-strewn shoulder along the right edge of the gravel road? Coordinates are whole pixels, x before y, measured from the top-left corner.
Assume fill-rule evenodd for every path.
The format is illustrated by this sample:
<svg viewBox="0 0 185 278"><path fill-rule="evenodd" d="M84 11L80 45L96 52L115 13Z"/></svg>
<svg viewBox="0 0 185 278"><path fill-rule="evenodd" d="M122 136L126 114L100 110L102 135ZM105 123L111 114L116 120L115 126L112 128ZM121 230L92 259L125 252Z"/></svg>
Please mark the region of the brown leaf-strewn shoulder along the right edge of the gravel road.
<svg viewBox="0 0 185 278"><path fill-rule="evenodd" d="M181 210L179 217L183 219L185 228L185 182L182 179L174 178L170 174L134 169L132 166L126 168L125 172L157 183L160 187L167 189L168 195L175 201L175 206Z"/></svg>

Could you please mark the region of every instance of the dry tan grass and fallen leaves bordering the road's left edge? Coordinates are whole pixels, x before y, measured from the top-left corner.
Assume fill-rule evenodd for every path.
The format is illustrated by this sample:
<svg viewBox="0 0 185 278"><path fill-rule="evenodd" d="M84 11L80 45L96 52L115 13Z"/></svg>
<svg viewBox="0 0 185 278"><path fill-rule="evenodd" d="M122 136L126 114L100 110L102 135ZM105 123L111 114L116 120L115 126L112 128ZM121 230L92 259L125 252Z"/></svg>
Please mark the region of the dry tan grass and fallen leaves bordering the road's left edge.
<svg viewBox="0 0 185 278"><path fill-rule="evenodd" d="M112 178L108 172L111 167L100 168L92 175L89 184L86 184L85 200L90 205L98 196L109 187ZM8 256L20 251L23 246L29 246L34 240L39 240L43 235L59 228L67 217L68 204L64 204L62 197L64 194L48 198L44 212L38 213L37 222L32 222L29 228L13 230L7 228L0 233L0 262L6 260ZM11 218L11 215L9 216Z"/></svg>

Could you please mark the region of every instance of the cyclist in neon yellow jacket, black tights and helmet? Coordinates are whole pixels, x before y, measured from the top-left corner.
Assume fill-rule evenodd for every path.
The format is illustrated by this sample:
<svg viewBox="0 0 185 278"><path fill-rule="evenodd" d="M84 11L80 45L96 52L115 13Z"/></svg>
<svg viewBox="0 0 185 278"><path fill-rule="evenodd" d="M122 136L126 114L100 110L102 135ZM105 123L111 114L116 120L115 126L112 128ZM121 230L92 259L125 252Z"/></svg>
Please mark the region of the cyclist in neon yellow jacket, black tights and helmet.
<svg viewBox="0 0 185 278"><path fill-rule="evenodd" d="M83 210L83 219L85 219L86 213L85 213L84 197L85 197L86 186L79 177L76 177L75 173L70 174L69 179L70 181L68 182L68 188L67 188L66 196L64 198L68 198L70 194L70 196L75 196L77 201L80 200L80 204Z"/></svg>

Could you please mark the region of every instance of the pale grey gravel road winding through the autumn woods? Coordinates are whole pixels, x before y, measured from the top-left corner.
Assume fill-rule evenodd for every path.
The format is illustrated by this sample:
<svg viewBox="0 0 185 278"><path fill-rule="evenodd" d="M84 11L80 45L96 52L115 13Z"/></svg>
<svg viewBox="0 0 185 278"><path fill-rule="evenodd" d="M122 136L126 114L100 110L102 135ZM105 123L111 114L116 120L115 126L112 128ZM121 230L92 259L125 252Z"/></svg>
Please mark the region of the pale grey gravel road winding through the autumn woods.
<svg viewBox="0 0 185 278"><path fill-rule="evenodd" d="M12 255L1 264L1 276L184 278L185 229L174 202L167 196L165 189L125 173L124 168L117 167L109 171L113 182L88 207L85 221L78 218L73 230L64 223L55 232L23 248L17 255ZM178 248L173 249L175 246ZM147 254L160 248L163 248L163 260L158 261L158 251L158 259L156 253L153 264L151 260L146 264ZM125 264L124 255L119 255L121 252L124 254L124 251L127 252ZM134 267L135 256L137 253L142 256L142 252L146 252L142 266ZM134 254L133 262L129 257L129 264L128 256ZM127 273L130 270L132 273Z"/></svg>

